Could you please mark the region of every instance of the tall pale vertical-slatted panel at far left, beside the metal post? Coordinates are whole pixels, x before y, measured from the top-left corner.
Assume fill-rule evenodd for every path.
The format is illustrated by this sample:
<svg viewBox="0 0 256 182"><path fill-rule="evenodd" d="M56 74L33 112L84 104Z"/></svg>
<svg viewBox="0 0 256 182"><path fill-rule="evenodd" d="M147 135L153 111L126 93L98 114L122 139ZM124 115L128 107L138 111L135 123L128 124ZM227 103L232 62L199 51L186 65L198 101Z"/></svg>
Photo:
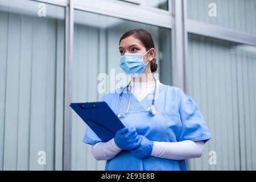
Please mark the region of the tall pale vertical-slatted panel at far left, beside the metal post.
<svg viewBox="0 0 256 182"><path fill-rule="evenodd" d="M0 12L0 26L0 169L62 169L64 21Z"/></svg>

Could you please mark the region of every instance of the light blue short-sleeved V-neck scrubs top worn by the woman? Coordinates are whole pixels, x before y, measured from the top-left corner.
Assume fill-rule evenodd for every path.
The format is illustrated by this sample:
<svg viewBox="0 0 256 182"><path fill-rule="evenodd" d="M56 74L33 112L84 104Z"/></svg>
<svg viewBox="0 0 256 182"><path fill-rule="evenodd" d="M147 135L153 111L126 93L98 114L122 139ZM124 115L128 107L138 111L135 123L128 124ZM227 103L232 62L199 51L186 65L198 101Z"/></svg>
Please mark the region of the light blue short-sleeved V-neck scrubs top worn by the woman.
<svg viewBox="0 0 256 182"><path fill-rule="evenodd" d="M105 94L100 101L105 101L116 112L119 93ZM160 84L156 89L155 107L157 114L151 115L147 109L152 104L154 90L139 102L131 94L130 109L125 118L120 118L126 127L135 127L139 135L152 141L179 142L182 140L203 140L207 142L211 135L199 107L183 90L175 86ZM124 93L118 114L125 113L129 104L129 93ZM108 122L108 121L106 121ZM86 128L84 143L102 142L90 129ZM188 170L185 160L171 160L148 156L138 159L127 150L122 150L114 158L107 160L105 170Z"/></svg>

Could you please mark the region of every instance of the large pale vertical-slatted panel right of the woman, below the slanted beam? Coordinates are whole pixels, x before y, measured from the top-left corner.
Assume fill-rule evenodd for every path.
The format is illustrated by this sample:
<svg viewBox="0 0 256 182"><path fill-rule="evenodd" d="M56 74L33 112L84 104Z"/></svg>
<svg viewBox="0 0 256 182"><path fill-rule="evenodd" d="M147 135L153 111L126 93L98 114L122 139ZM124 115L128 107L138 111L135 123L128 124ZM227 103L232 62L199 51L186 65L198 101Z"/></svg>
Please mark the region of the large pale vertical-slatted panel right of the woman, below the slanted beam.
<svg viewBox="0 0 256 182"><path fill-rule="evenodd" d="M212 140L191 169L256 169L256 52L238 44L189 35L188 93L199 105ZM216 151L217 164L208 163Z"/></svg>

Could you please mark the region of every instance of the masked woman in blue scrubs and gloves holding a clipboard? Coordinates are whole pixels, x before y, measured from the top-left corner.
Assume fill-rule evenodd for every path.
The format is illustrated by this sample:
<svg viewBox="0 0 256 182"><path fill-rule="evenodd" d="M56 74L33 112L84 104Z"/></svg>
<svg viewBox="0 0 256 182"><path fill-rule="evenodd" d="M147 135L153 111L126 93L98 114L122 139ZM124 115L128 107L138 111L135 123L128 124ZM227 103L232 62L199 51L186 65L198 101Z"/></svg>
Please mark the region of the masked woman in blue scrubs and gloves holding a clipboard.
<svg viewBox="0 0 256 182"><path fill-rule="evenodd" d="M108 142L87 127L83 142L92 144L96 160L107 160L105 170L188 170L185 159L199 158L211 138L199 108L181 89L152 76L158 65L147 31L127 31L119 46L119 66L131 75L131 82L100 101L115 111L120 93L128 91L123 92L116 111L118 116L125 115L120 120L126 127Z"/></svg>

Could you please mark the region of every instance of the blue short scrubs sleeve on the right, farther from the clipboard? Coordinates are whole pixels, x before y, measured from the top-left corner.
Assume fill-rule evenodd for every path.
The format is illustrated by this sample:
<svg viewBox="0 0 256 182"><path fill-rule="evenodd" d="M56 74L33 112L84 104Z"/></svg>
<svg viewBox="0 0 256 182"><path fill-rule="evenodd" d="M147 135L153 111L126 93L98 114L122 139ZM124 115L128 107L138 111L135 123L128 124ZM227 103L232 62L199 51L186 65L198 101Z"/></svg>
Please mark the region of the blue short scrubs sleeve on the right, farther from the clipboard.
<svg viewBox="0 0 256 182"><path fill-rule="evenodd" d="M179 140L203 140L206 143L212 137L195 101L181 89L177 91L177 100L182 123Z"/></svg>

